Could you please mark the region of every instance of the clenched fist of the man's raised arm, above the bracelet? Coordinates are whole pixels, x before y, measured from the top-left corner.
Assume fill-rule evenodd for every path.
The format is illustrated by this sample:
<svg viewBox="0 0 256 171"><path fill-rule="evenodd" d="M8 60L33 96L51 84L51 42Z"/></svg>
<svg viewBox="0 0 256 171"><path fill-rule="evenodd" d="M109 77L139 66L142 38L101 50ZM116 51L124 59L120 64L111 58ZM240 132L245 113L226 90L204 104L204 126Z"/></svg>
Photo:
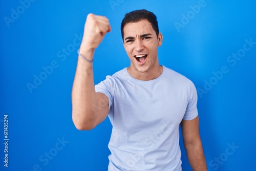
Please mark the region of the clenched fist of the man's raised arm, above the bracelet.
<svg viewBox="0 0 256 171"><path fill-rule="evenodd" d="M84 25L80 49L96 49L105 34L111 31L109 19L105 16L88 14Z"/></svg>

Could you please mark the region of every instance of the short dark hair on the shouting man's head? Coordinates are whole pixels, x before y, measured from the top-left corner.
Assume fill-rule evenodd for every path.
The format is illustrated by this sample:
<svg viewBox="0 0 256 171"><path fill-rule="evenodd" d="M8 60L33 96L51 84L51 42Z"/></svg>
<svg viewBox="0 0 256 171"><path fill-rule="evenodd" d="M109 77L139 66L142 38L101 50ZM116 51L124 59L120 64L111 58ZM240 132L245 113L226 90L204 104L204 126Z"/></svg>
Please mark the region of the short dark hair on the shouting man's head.
<svg viewBox="0 0 256 171"><path fill-rule="evenodd" d="M147 11L147 10L135 10L132 12L129 12L125 14L122 23L121 23L121 34L122 34L122 39L123 39L123 28L127 23L137 23L142 19L148 20L148 22L151 23L153 29L155 30L157 37L159 34L159 29L158 29L158 22L157 22L157 17L153 12Z"/></svg>

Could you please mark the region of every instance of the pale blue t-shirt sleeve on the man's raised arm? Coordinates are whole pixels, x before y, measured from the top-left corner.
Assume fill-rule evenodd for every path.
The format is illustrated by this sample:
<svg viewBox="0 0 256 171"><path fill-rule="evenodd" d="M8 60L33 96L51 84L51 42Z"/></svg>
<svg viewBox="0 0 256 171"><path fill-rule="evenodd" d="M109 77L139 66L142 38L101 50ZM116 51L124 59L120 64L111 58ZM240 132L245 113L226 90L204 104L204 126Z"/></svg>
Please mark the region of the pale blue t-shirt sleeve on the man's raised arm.
<svg viewBox="0 0 256 171"><path fill-rule="evenodd" d="M96 93L103 93L108 97L109 99L109 110L112 106L113 102L113 92L111 88L114 87L114 81L112 79L112 76L106 76L106 79L104 81L101 81L100 83L95 85L95 92Z"/></svg>

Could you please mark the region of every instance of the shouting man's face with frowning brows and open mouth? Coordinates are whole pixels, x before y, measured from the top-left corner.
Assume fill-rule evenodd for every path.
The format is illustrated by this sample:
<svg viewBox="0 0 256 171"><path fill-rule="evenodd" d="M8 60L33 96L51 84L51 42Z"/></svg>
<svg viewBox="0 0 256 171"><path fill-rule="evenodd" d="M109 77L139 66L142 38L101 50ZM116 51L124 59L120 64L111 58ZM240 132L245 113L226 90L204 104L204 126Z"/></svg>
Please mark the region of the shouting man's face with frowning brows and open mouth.
<svg viewBox="0 0 256 171"><path fill-rule="evenodd" d="M127 23L123 28L124 49L131 60L133 73L150 72L159 67L157 49L162 44L162 34L158 37L146 19L137 23Z"/></svg>

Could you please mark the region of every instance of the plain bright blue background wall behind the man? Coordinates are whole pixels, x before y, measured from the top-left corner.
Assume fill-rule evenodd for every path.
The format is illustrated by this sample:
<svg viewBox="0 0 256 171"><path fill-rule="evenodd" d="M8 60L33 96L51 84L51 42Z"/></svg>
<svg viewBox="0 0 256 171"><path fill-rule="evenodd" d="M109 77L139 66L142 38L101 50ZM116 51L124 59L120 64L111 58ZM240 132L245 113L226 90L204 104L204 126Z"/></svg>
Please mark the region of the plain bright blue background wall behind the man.
<svg viewBox="0 0 256 171"><path fill-rule="evenodd" d="M9 119L9 163L4 167L0 143L1 170L107 170L109 119L92 131L78 131L71 118L77 44L87 14L104 15L112 31L95 53L95 83L129 66L120 23L135 9L153 11L158 17L163 33L160 64L188 77L201 92L200 133L208 170L256 170L256 45L240 60L229 58L243 52L245 39L256 41L255 1L206 0L194 15L190 6L200 1L0 2L0 142L4 114ZM12 14L17 10L18 16ZM182 24L187 14L189 21L184 23L183 18L183 27L177 29L175 22ZM220 74L223 66L228 72ZM44 80L29 90L28 84L39 76ZM214 85L205 86L210 81ZM180 144L183 170L191 170Z"/></svg>

